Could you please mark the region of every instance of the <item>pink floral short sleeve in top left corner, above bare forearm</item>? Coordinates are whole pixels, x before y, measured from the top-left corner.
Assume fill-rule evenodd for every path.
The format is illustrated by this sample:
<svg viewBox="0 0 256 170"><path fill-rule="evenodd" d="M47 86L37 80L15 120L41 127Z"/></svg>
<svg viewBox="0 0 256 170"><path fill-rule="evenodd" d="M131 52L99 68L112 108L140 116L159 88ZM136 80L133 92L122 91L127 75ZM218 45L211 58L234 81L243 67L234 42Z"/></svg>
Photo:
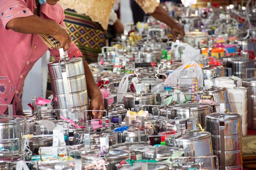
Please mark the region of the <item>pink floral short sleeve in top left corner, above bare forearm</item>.
<svg viewBox="0 0 256 170"><path fill-rule="evenodd" d="M28 17L33 15L26 7L25 0L0 0L0 19L5 29L7 23L14 18Z"/></svg>

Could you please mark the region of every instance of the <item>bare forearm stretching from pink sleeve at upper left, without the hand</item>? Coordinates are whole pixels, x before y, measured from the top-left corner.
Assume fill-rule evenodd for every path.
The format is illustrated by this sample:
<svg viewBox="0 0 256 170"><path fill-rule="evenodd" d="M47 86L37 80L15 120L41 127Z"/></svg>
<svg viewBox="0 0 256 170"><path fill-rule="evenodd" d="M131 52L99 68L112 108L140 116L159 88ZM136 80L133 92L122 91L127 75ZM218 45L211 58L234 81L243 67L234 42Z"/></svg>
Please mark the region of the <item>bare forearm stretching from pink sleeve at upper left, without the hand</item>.
<svg viewBox="0 0 256 170"><path fill-rule="evenodd" d="M58 31L58 24L52 20L45 20L36 15L15 18L7 23L7 28L27 34L54 34Z"/></svg>

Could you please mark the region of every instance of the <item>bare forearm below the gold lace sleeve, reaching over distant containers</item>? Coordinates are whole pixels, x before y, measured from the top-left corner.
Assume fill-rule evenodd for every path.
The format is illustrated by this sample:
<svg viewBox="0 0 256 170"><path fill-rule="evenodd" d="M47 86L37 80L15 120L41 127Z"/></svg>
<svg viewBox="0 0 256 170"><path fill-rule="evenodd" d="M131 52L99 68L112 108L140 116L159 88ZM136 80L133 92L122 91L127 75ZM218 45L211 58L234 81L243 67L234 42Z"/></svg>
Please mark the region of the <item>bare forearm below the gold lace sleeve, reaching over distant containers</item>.
<svg viewBox="0 0 256 170"><path fill-rule="evenodd" d="M161 5L156 7L153 13L149 13L149 15L153 16L155 19L164 22L168 26L172 27L177 24L177 22L167 13L165 9Z"/></svg>

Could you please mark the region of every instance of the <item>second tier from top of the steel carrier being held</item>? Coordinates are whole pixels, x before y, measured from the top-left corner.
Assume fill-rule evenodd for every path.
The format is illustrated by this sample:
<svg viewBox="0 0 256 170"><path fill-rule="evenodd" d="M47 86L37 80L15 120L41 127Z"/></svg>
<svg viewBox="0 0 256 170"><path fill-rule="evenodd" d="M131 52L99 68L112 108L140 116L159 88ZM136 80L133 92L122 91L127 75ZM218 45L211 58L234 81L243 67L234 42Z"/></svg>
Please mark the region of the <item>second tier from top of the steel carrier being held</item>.
<svg viewBox="0 0 256 170"><path fill-rule="evenodd" d="M55 95L65 94L63 79L51 80L52 93ZM84 91L87 89L85 82L85 75L67 78L67 84L72 92Z"/></svg>

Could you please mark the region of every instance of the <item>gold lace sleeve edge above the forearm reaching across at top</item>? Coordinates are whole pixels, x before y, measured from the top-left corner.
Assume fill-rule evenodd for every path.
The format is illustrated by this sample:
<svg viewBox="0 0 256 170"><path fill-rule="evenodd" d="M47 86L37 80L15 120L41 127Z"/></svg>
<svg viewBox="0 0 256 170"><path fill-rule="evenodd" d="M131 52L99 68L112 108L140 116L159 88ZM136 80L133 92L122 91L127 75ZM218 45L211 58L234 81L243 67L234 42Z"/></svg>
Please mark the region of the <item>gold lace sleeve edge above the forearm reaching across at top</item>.
<svg viewBox="0 0 256 170"><path fill-rule="evenodd" d="M159 6L157 0L135 0L145 13L153 13Z"/></svg>

